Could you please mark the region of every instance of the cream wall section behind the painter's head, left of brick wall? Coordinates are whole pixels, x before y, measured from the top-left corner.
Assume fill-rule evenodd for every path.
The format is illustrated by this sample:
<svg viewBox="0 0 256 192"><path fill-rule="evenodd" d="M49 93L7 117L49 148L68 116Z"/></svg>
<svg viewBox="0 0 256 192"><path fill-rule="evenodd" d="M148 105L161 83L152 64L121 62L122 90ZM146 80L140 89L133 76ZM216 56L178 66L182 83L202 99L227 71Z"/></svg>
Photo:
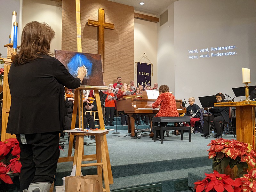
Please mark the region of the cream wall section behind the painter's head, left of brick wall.
<svg viewBox="0 0 256 192"><path fill-rule="evenodd" d="M61 1L59 1L61 3ZM31 21L45 22L55 31L50 51L61 50L62 8L56 1L23 0L22 28Z"/></svg>

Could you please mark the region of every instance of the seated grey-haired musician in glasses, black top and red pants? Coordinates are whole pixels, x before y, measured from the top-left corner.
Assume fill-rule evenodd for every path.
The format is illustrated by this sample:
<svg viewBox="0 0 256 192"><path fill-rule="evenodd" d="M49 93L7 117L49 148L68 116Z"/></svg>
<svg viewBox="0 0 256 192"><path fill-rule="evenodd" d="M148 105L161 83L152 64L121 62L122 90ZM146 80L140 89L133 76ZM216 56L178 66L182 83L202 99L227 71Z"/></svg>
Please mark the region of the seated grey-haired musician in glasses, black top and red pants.
<svg viewBox="0 0 256 192"><path fill-rule="evenodd" d="M184 116L192 116L192 115L194 115L194 116L190 119L189 123L183 122L183 124L184 124L184 126L189 126L189 124L190 124L191 132L193 132L196 121L200 120L201 110L200 110L200 107L195 104L194 97L189 97L188 103L189 103L189 106L187 107L187 113L185 113Z"/></svg>

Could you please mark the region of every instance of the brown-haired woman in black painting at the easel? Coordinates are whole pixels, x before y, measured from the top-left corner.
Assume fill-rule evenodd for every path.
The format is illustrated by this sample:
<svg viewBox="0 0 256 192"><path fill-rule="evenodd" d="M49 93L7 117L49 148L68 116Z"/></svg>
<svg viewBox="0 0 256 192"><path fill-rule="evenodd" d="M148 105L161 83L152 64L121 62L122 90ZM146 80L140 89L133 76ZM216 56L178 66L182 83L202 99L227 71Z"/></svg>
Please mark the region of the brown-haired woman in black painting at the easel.
<svg viewBox="0 0 256 192"><path fill-rule="evenodd" d="M78 88L86 74L81 67L74 78L50 56L53 38L54 31L47 24L28 23L8 74L12 104L6 132L16 134L20 143L23 192L48 192L55 180L59 133L65 125L64 86Z"/></svg>

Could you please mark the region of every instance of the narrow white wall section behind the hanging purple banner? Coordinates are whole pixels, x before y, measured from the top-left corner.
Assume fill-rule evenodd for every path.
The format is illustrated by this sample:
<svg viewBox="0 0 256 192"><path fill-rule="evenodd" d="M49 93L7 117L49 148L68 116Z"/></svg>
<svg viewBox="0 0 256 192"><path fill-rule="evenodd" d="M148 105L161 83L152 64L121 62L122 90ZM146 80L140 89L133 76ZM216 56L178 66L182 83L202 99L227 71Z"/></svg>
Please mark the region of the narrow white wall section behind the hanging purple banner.
<svg viewBox="0 0 256 192"><path fill-rule="evenodd" d="M134 19L134 62L137 61L143 53L153 64L151 68L151 86L157 82L157 32L156 23ZM149 63L145 57L141 57L137 62ZM137 82L137 64L134 66L134 81ZM153 70L153 76L152 76Z"/></svg>

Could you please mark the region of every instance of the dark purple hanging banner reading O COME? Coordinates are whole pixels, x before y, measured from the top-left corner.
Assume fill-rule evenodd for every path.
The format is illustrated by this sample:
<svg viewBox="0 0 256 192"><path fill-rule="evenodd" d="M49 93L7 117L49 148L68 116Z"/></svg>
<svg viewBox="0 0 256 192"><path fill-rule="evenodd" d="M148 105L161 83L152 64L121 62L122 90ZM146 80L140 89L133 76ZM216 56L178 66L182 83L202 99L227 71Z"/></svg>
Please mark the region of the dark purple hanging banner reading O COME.
<svg viewBox="0 0 256 192"><path fill-rule="evenodd" d="M151 64L149 63L137 63L137 87L143 86L143 89L147 85L151 85Z"/></svg>

